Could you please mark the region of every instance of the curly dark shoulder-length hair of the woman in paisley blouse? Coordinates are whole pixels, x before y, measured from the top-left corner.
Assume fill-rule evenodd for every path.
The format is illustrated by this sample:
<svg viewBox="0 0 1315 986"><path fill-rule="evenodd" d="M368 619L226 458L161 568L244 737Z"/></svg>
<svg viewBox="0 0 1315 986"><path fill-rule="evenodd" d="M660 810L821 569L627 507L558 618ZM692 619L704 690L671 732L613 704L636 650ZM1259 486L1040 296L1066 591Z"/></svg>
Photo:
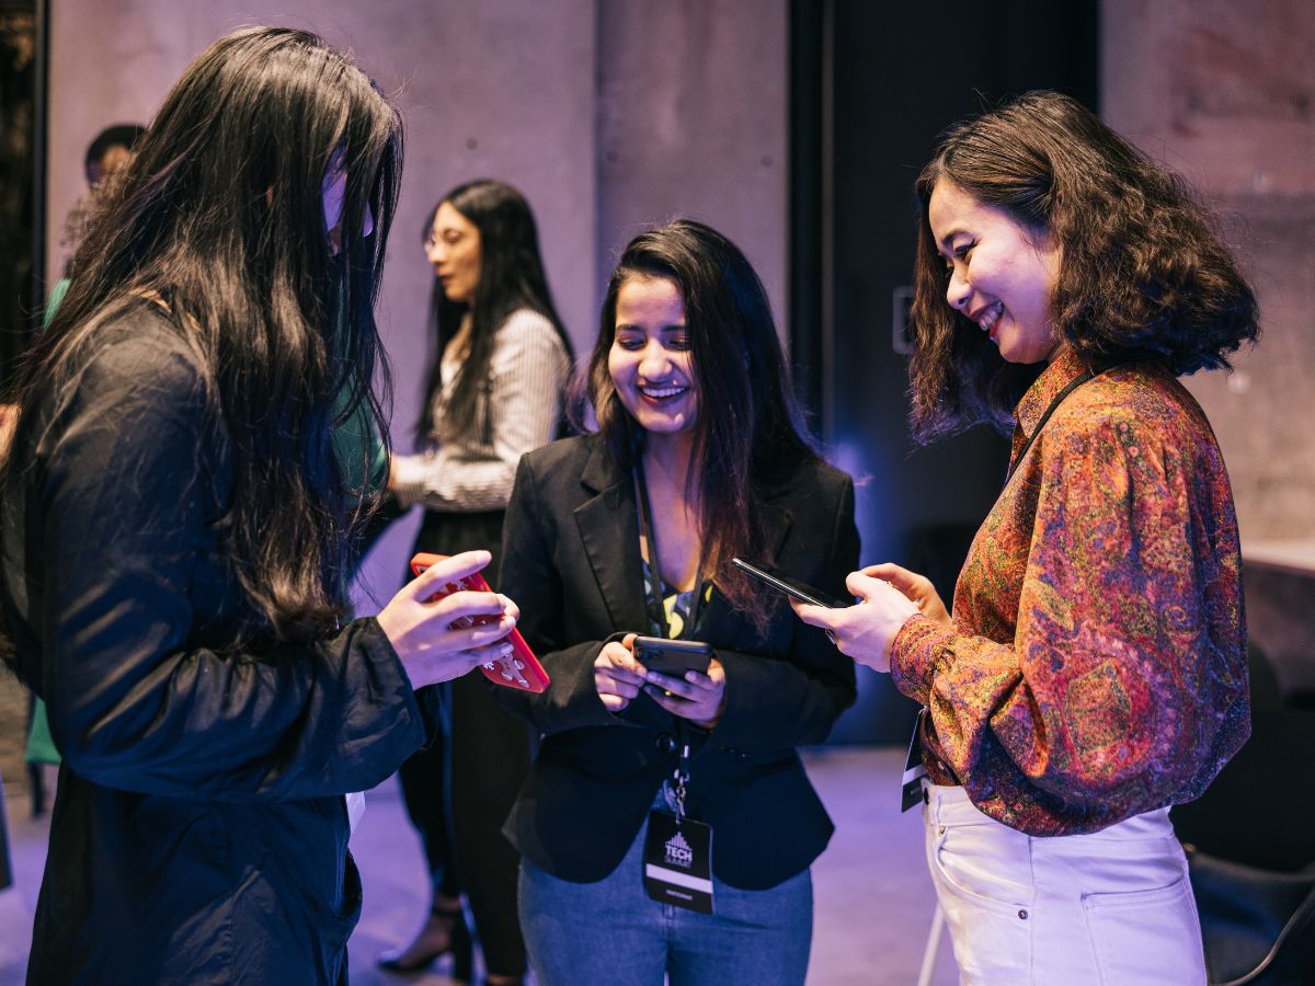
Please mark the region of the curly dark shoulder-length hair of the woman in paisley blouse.
<svg viewBox="0 0 1315 986"><path fill-rule="evenodd" d="M1001 359L947 301L927 217L939 181L1060 247L1056 331L1093 362L1193 373L1228 367L1260 334L1255 292L1186 183L1077 100L1028 92L947 130L918 176L910 419L922 442L980 422L1010 427L1040 372Z"/></svg>

